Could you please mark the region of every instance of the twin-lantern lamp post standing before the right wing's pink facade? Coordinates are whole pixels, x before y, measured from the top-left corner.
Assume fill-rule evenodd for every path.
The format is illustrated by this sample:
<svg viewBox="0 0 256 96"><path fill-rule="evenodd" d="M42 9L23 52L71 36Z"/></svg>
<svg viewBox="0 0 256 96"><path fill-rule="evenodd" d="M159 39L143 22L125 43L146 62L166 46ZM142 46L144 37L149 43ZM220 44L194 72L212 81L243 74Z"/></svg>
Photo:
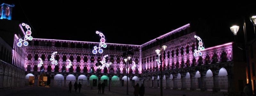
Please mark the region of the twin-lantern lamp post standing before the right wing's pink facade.
<svg viewBox="0 0 256 96"><path fill-rule="evenodd" d="M159 42L159 39L156 39L156 41ZM159 43L160 43L160 42L159 42ZM159 50L159 49L156 50L156 54L158 55L158 56L156 56L156 57L157 57L157 63L160 64L160 96L163 96L162 61L163 61L164 59L162 59L162 53L165 52L165 49L166 49L166 48L167 48L167 46L165 46L165 45L162 46L162 44L160 43L160 50ZM164 51L162 51L162 49L163 49Z"/></svg>

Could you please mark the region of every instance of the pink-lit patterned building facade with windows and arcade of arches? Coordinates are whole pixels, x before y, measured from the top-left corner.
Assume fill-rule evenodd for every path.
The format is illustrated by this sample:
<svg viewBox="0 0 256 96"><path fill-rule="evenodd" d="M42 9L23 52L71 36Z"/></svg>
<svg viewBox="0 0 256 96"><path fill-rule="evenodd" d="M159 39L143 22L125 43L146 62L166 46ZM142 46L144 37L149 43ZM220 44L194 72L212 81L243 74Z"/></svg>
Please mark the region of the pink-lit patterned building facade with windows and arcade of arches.
<svg viewBox="0 0 256 96"><path fill-rule="evenodd" d="M233 43L206 46L201 51L202 56L195 57L194 50L198 46L195 35L196 32L191 31L190 24L187 24L156 38L167 46L162 66L164 88L213 92L228 91L229 88L239 90L232 86L240 86L236 80L243 80L244 77L234 76L239 74L234 69L243 66L234 62ZM41 76L47 76L47 83L51 86L67 86L69 81L82 82L83 86L97 86L94 81L111 81L111 86L125 86L127 70L121 55L131 50L136 67L129 67L129 86L144 83L146 87L159 88L160 66L155 52L159 44L156 39L142 45L107 43L102 54L93 54L93 46L99 44L97 42L34 38L26 47L26 74L35 76L35 79L29 79L34 85L41 85ZM57 52L54 57L57 65L50 61L53 52ZM108 55L106 61L113 64L110 69L103 68L100 74L95 73L95 63L100 62L104 55ZM42 67L37 67L38 58L43 60ZM72 63L71 68L66 67L68 60Z"/></svg>

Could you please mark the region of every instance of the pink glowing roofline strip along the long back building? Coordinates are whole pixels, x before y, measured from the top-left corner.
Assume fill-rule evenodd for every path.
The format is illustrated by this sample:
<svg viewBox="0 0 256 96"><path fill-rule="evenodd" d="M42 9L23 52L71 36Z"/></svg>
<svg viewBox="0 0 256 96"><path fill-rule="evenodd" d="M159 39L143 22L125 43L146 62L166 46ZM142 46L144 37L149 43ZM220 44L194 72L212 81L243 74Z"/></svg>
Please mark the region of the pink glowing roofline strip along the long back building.
<svg viewBox="0 0 256 96"><path fill-rule="evenodd" d="M66 41L66 42L80 42L80 43L95 43L99 44L99 42L87 42L87 41L72 41L72 40L58 40L58 39L40 39L40 38L33 38L35 40L52 40L52 41ZM113 44L113 45L125 45L125 46L140 46L140 45L132 45L132 44L115 44L115 43L106 43L106 44Z"/></svg>

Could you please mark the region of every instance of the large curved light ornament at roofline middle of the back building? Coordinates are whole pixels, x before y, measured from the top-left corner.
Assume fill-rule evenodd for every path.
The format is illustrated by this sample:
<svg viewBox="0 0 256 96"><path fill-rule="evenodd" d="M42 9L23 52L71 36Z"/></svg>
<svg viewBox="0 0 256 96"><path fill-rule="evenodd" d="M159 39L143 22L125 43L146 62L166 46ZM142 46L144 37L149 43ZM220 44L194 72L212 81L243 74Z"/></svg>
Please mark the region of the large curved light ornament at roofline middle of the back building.
<svg viewBox="0 0 256 96"><path fill-rule="evenodd" d="M101 38L100 38L100 44L99 44L99 47L97 47L97 46L94 46L94 47L93 47L92 53L93 53L93 54L97 54L97 52L103 53L103 49L101 49L101 47L103 47L103 48L106 48L106 47L107 47L107 44L105 43L105 42L106 42L105 36L104 36L103 33L101 33L100 31L96 31L96 34L99 34L99 35L101 36ZM98 50L98 49L99 49L99 50ZM98 50L98 51L97 51L97 50Z"/></svg>

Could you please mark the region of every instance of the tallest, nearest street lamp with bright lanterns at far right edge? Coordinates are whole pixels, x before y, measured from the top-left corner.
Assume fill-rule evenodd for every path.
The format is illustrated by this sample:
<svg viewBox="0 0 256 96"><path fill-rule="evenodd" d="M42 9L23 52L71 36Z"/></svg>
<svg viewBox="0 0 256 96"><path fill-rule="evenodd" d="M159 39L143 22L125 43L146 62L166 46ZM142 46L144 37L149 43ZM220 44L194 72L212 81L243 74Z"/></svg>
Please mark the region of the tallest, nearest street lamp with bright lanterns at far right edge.
<svg viewBox="0 0 256 96"><path fill-rule="evenodd" d="M250 17L250 20L251 20L252 24L254 25L254 34L255 34L256 16ZM249 80L248 83L249 83L250 94L252 94L251 68L250 68L249 50L248 50L248 46L250 44L247 43L246 25L245 25L244 19L243 19L243 28L244 28L244 44L245 44L246 62L247 62L247 74L248 74L248 80ZM239 26L234 25L234 26L230 27L230 30L232 31L234 36L236 36L236 34L239 30ZM240 48L240 47L238 47L238 48ZM242 48L240 48L240 49L242 49Z"/></svg>

